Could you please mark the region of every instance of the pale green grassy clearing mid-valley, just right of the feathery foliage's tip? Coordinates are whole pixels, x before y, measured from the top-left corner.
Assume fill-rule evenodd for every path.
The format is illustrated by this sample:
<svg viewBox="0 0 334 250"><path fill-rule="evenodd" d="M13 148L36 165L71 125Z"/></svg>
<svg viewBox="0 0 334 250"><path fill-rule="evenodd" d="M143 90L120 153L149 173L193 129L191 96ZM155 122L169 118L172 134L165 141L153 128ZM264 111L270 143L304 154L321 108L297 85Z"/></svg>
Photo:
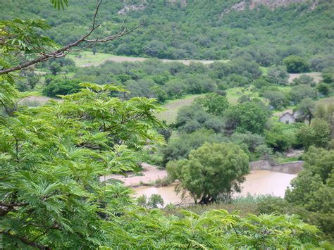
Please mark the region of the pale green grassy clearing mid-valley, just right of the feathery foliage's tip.
<svg viewBox="0 0 334 250"><path fill-rule="evenodd" d="M178 110L183 106L190 106L192 101L198 96L202 96L201 94L193 94L189 96L185 96L183 99L177 99L173 101L168 101L163 108L166 108L166 111L158 113L156 116L160 120L166 120L168 124L175 122L176 115L178 114Z"/></svg>

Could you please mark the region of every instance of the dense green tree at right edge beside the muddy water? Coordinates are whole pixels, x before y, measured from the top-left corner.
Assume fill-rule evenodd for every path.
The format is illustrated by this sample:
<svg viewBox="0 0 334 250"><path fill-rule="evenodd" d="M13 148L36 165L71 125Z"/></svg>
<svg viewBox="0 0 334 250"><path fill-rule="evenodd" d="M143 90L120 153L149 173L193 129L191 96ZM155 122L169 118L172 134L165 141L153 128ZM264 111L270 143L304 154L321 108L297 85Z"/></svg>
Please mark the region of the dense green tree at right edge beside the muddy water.
<svg viewBox="0 0 334 250"><path fill-rule="evenodd" d="M304 157L304 169L291 182L285 194L287 201L316 212L316 223L333 234L334 151L312 146Z"/></svg>

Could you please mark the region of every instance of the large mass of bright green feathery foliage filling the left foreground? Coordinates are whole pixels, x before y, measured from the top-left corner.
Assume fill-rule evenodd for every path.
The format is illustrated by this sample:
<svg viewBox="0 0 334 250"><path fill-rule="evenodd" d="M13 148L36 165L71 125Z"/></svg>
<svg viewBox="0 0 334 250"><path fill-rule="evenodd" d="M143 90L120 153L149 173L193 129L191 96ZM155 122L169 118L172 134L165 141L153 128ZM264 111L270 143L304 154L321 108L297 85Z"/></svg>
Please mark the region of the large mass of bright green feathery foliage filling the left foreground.
<svg viewBox="0 0 334 250"><path fill-rule="evenodd" d="M112 98L111 85L83 84L77 94L46 106L18 106L11 85L0 86L0 233L8 248L79 249L110 245L105 220L130 207L130 191L100 177L132 170L161 123L155 100Z"/></svg>

